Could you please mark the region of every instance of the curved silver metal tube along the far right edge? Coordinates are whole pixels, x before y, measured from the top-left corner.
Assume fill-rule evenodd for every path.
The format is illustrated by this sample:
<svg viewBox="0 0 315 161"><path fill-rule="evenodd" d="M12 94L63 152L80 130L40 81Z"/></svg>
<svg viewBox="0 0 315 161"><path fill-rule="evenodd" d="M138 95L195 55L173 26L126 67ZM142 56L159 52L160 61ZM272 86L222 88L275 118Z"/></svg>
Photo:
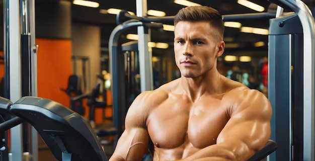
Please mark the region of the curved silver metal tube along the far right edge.
<svg viewBox="0 0 315 161"><path fill-rule="evenodd" d="M309 9L296 1L303 27L303 160L315 160L315 23Z"/></svg>

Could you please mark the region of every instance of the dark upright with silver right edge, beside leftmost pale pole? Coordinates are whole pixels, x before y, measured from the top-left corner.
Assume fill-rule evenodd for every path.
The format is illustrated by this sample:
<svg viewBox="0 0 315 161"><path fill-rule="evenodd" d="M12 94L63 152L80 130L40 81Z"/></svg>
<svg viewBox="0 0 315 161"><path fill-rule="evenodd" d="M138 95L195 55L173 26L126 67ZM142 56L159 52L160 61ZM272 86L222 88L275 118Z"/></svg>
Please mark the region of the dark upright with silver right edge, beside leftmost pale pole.
<svg viewBox="0 0 315 161"><path fill-rule="evenodd" d="M32 10L31 10L32 9ZM37 62L35 46L35 3L29 0L20 0L21 21L21 72L22 72L22 97L36 96L37 93ZM34 50L35 49L35 50ZM25 158L33 156L37 160L38 142L37 131L29 123L23 123L23 143Z"/></svg>

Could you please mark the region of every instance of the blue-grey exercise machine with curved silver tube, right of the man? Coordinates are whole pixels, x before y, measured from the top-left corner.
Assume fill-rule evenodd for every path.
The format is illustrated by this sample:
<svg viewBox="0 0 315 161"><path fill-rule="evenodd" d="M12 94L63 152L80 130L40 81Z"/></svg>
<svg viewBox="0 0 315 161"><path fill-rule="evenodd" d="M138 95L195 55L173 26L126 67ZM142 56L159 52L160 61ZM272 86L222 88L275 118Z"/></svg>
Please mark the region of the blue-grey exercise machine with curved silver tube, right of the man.
<svg viewBox="0 0 315 161"><path fill-rule="evenodd" d="M270 159L315 160L314 18L302 1L270 2L279 6L269 27L271 139L279 145Z"/></svg>

